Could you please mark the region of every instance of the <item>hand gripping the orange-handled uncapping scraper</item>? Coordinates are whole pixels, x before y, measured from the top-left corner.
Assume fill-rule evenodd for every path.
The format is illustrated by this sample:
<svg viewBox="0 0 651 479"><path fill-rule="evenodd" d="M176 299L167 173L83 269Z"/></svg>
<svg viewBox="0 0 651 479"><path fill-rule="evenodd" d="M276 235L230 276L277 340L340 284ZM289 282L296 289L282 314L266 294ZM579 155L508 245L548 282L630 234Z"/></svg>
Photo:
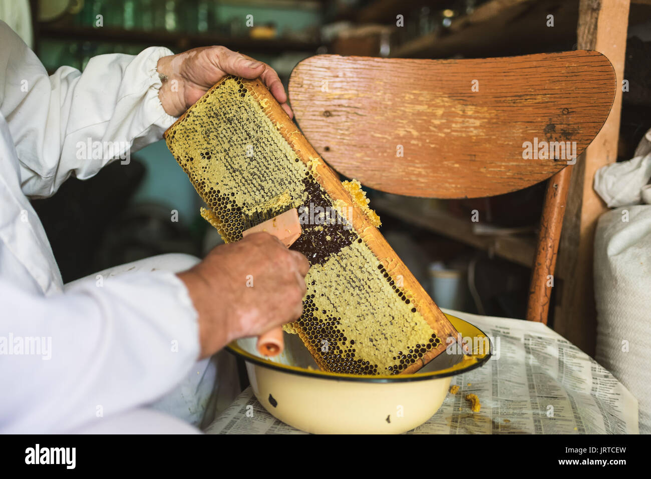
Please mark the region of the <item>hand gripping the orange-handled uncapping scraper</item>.
<svg viewBox="0 0 651 479"><path fill-rule="evenodd" d="M255 233L215 247L179 273L199 314L201 357L301 316L307 258L275 236Z"/></svg>

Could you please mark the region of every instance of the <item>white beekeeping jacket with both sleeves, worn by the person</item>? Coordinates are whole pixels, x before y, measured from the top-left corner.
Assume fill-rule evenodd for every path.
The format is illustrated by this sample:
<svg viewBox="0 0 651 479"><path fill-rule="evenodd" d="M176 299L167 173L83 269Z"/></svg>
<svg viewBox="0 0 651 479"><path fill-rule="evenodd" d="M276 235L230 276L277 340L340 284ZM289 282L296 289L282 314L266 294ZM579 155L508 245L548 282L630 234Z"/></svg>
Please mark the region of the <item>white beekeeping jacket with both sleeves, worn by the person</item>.
<svg viewBox="0 0 651 479"><path fill-rule="evenodd" d="M161 138L175 118L158 100L156 64L171 53L100 55L83 74L64 66L48 76L0 21L0 432L72 430L148 404L199 356L197 313L172 273L64 293L27 199L111 161L77 154L79 142L128 142L133 151Z"/></svg>

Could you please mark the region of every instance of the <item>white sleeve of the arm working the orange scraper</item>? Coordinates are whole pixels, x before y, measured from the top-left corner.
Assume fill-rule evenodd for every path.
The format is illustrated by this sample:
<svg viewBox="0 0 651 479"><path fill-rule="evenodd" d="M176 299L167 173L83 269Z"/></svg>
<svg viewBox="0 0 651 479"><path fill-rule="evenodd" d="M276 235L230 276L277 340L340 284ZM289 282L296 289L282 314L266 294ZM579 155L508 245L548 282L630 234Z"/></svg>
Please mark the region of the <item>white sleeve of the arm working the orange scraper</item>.
<svg viewBox="0 0 651 479"><path fill-rule="evenodd" d="M197 313L173 273L48 297L0 279L0 305L0 433L60 433L149 404L199 357Z"/></svg>

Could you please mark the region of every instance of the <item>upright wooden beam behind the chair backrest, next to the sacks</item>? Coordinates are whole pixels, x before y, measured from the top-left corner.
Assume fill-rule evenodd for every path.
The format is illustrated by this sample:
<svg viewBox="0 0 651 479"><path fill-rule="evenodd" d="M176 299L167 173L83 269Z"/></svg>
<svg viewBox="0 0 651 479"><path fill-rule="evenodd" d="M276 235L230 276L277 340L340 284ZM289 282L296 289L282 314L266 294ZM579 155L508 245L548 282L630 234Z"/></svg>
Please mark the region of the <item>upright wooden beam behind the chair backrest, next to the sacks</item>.
<svg viewBox="0 0 651 479"><path fill-rule="evenodd" d="M630 0L581 0L577 48L606 55L615 68L616 94L602 130L579 157L572 172L559 248L557 301L553 327L586 353L594 355L596 311L592 281L594 230L607 210L592 189L594 172L616 161L622 108L622 79Z"/></svg>

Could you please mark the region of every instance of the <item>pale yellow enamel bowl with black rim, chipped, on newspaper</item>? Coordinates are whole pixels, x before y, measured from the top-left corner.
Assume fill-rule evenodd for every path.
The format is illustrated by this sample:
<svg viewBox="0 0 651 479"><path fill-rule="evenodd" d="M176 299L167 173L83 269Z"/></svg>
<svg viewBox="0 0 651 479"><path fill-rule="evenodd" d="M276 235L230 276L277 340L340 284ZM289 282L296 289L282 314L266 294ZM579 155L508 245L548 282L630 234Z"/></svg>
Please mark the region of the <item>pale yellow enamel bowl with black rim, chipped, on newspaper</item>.
<svg viewBox="0 0 651 479"><path fill-rule="evenodd" d="M490 358L488 338L477 327L446 314L471 355L449 348L415 374L357 376L319 370L297 335L284 334L285 349L274 358L258 355L256 338L228 349L242 357L260 404L281 421L309 433L402 433L428 420L443 404L452 376ZM473 348L475 345L475 348ZM480 349L486 349L480 350Z"/></svg>

